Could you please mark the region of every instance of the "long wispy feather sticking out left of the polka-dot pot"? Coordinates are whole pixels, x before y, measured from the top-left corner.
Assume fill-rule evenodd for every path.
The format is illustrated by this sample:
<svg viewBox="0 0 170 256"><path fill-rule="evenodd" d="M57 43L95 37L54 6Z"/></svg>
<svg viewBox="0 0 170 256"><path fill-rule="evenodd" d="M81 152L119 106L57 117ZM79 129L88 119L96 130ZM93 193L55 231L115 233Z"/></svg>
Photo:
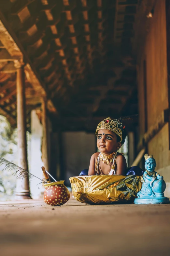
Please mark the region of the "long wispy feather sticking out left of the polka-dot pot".
<svg viewBox="0 0 170 256"><path fill-rule="evenodd" d="M14 176L16 175L17 179L20 179L20 178L23 179L23 178L28 176L29 179L36 178L36 179L41 180L41 182L38 183L38 184L46 184L47 183L45 180L36 177L34 174L24 170L23 168L21 168L17 164L10 162L10 161L6 160L3 157L0 157L0 165L3 165L3 164L5 165L4 170L14 171L12 174Z"/></svg>

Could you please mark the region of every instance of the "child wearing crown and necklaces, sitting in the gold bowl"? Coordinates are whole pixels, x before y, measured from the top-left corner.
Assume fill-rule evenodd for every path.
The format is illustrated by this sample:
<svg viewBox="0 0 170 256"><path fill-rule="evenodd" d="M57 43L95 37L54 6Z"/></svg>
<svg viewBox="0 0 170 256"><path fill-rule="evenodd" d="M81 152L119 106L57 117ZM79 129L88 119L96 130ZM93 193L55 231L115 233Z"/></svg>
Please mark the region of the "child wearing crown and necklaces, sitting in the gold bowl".
<svg viewBox="0 0 170 256"><path fill-rule="evenodd" d="M117 152L126 135L121 119L113 121L108 117L100 122L96 129L100 152L92 155L89 170L83 170L80 175L142 175L143 171L137 166L127 169L125 157Z"/></svg>

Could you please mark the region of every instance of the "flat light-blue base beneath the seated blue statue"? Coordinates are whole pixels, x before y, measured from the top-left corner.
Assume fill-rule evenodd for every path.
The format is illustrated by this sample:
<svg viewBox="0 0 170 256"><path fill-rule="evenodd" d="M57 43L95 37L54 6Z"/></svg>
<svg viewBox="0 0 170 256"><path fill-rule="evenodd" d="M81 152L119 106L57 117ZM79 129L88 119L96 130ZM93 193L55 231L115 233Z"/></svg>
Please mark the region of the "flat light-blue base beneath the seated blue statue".
<svg viewBox="0 0 170 256"><path fill-rule="evenodd" d="M135 204L169 204L169 198L162 196L135 198Z"/></svg>

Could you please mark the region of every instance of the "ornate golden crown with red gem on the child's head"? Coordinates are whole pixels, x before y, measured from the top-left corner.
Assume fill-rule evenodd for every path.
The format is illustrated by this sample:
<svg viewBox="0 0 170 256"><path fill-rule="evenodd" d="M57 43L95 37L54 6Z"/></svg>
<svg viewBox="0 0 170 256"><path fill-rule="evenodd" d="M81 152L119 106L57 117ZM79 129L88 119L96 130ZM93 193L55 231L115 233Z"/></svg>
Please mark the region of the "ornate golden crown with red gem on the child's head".
<svg viewBox="0 0 170 256"><path fill-rule="evenodd" d="M100 129L106 129L106 130L110 130L113 131L114 133L116 133L119 137L120 137L120 142L122 141L122 131L118 126L118 121L113 121L110 117L104 119L103 121L101 121L96 129L96 136L97 136L97 131Z"/></svg>

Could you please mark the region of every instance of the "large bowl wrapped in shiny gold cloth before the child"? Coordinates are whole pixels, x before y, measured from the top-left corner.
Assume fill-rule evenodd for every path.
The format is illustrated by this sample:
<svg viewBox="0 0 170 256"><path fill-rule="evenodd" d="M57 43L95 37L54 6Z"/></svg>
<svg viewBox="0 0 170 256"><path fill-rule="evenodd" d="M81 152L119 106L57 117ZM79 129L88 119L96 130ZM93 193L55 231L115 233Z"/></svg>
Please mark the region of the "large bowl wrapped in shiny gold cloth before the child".
<svg viewBox="0 0 170 256"><path fill-rule="evenodd" d="M88 204L132 203L141 190L141 176L92 175L69 178L75 199Z"/></svg>

